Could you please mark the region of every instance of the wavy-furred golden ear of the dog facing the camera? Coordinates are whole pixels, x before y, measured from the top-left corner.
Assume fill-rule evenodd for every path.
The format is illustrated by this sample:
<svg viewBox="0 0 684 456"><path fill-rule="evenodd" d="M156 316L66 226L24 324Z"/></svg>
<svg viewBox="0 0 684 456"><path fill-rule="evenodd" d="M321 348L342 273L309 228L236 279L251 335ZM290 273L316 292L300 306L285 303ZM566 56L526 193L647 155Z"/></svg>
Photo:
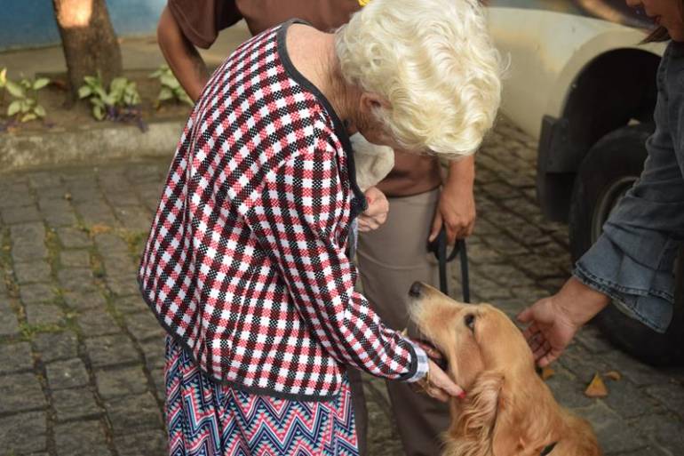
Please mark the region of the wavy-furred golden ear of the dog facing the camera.
<svg viewBox="0 0 684 456"><path fill-rule="evenodd" d="M513 415L504 374L485 371L468 391L457 428L467 440L478 442L481 448L490 448L494 456L509 456L521 444Z"/></svg>

